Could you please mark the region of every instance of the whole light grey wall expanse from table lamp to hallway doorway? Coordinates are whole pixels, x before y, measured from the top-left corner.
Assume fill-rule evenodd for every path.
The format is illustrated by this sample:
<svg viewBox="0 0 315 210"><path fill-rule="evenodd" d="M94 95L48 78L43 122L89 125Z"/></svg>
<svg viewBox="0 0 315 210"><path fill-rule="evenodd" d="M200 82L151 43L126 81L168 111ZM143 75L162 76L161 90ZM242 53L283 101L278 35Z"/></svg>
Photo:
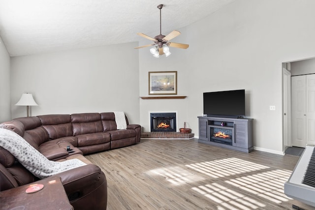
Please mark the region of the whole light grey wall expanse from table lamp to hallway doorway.
<svg viewBox="0 0 315 210"><path fill-rule="evenodd" d="M148 131L149 111L177 111L179 127L186 121L197 136L203 92L245 89L255 149L282 154L282 63L315 57L313 8L314 0L236 0L178 29L172 41L189 48L171 48L167 58L135 52L136 43L12 58L12 118L26 115L14 104L30 92L39 104L32 116L123 110ZM139 99L149 71L178 71L178 95L188 97Z"/></svg>

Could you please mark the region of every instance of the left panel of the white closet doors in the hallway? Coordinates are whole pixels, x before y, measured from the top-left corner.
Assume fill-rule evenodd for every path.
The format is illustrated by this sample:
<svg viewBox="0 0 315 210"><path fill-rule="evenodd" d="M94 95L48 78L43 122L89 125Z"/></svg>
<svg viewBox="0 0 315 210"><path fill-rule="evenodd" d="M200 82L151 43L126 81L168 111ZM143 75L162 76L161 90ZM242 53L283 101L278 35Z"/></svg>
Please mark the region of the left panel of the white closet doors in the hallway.
<svg viewBox="0 0 315 210"><path fill-rule="evenodd" d="M291 77L292 146L306 146L306 75Z"/></svg>

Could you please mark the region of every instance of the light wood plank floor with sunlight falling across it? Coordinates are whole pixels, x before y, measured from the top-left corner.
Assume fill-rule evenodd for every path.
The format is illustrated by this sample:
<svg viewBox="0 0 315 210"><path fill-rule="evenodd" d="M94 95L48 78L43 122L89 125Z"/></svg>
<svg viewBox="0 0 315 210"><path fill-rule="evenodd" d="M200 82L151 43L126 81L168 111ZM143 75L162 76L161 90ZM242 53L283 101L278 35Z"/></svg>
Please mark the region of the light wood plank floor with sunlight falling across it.
<svg viewBox="0 0 315 210"><path fill-rule="evenodd" d="M298 156L142 139L86 157L106 175L107 210L315 209L284 195Z"/></svg>

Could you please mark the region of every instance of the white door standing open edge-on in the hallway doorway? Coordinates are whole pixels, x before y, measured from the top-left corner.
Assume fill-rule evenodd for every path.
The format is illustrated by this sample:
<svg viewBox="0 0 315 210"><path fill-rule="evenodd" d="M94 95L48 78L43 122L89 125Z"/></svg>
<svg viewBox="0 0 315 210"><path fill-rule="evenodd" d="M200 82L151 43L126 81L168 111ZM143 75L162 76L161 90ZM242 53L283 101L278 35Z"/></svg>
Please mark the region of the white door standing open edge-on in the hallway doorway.
<svg viewBox="0 0 315 210"><path fill-rule="evenodd" d="M283 69L283 146L292 146L291 143L291 73ZM283 150L284 150L283 148Z"/></svg>

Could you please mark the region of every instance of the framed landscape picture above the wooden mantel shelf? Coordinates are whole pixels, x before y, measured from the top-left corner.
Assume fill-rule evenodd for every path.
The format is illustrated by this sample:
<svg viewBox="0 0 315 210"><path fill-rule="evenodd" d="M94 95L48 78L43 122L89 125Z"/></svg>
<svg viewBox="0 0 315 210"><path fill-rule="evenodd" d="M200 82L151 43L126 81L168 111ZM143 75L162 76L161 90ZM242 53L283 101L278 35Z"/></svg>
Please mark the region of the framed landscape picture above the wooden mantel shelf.
<svg viewBox="0 0 315 210"><path fill-rule="evenodd" d="M177 71L150 71L149 95L176 95Z"/></svg>

